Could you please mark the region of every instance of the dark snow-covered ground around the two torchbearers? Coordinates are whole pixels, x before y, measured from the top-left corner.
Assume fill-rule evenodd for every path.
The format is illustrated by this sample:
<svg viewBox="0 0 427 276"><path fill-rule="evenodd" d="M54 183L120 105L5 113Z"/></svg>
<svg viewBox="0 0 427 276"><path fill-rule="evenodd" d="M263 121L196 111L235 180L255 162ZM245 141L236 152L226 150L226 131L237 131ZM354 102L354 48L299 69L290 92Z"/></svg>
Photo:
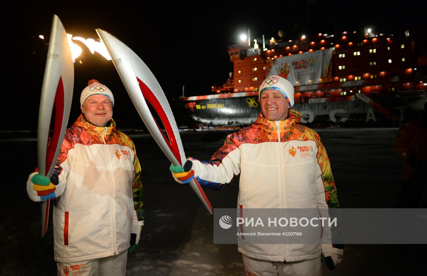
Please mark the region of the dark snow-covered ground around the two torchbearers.
<svg viewBox="0 0 427 276"><path fill-rule="evenodd" d="M393 153L397 129L317 129L343 208L392 208L400 192L401 160ZM232 131L181 132L187 156L210 159ZM133 138L143 170L147 220L129 255L127 276L243 276L237 245L213 244L213 221L187 186L174 182L170 162L149 135ZM36 166L34 140L5 140L0 214L0 275L56 275L52 225L39 237L39 205L25 182ZM239 179L205 190L213 208L234 208ZM50 221L51 223L51 221ZM405 233L403 235L410 235ZM342 263L323 275L424 275L426 245L345 245ZM424 273L421 273L424 269Z"/></svg>

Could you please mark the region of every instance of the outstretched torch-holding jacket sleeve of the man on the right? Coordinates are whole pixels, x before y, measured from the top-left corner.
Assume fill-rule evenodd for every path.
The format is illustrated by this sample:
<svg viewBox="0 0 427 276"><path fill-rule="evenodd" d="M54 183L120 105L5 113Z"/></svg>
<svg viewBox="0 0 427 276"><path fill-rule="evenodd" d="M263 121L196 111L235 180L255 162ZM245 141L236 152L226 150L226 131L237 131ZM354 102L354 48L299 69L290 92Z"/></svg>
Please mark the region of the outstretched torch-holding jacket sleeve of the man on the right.
<svg viewBox="0 0 427 276"><path fill-rule="evenodd" d="M227 136L224 145L213 154L210 161L188 159L193 161L196 180L205 188L220 190L240 173L240 149L233 134Z"/></svg>

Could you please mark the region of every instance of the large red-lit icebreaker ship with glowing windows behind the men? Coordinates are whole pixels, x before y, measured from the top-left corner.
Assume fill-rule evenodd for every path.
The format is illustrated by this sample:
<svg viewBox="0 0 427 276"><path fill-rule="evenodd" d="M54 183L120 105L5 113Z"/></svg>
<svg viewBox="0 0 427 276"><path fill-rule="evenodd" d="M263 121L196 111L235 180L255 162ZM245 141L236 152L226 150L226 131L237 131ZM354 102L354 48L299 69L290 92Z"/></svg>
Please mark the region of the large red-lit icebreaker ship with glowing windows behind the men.
<svg viewBox="0 0 427 276"><path fill-rule="evenodd" d="M392 126L403 120L402 109L422 109L426 101L426 59L417 59L409 30L401 35L374 35L369 30L272 38L268 50L241 43L229 46L228 54L234 70L225 84L212 86L212 95L181 98L196 122L252 122L260 112L261 82L277 73L287 75L294 85L293 109L303 113L304 123L372 121Z"/></svg>

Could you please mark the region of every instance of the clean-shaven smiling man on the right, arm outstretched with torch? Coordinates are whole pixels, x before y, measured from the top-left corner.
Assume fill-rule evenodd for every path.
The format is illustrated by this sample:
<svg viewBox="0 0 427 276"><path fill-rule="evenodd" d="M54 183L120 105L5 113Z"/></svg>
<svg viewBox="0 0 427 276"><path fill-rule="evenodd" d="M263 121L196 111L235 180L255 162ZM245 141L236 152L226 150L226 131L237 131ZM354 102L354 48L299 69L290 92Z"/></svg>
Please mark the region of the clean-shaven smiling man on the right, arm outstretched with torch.
<svg viewBox="0 0 427 276"><path fill-rule="evenodd" d="M301 125L290 109L294 88L284 75L260 86L261 114L249 127L228 135L210 161L188 158L171 166L174 179L193 177L205 188L224 188L240 173L237 208L338 208L335 181L319 135ZM306 150L309 149L309 150ZM244 212L244 210L242 210ZM321 275L321 255L333 269L340 244L239 244L245 275Z"/></svg>

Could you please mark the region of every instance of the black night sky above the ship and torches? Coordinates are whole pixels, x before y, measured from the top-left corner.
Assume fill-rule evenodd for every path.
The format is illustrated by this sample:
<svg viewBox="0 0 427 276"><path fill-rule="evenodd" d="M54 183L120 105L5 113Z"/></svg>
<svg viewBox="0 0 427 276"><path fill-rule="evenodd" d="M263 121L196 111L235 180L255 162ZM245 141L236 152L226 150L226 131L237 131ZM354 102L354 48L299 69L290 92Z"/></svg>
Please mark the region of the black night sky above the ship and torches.
<svg viewBox="0 0 427 276"><path fill-rule="evenodd" d="M110 32L148 65L170 99L185 95L211 94L233 70L227 46L237 44L241 33L250 29L251 40L262 47L278 38L283 29L286 39L322 33L341 34L370 27L373 32L395 32L398 27L426 28L421 6L387 6L372 1L200 2L165 5L150 4L91 5L74 3L22 5L3 10L2 25L7 35L3 58L3 129L36 129L38 105L46 62L53 14L61 19L67 33L83 38L98 38L96 28ZM203 6L204 8L201 8ZM44 35L44 41L38 38ZM98 79L114 93L114 116L120 127L139 127L137 115L111 61L98 53L92 55L84 44L74 65L74 97L69 125L79 113L80 92L89 79ZM35 53L34 53L35 52ZM82 64L78 63L82 61Z"/></svg>

